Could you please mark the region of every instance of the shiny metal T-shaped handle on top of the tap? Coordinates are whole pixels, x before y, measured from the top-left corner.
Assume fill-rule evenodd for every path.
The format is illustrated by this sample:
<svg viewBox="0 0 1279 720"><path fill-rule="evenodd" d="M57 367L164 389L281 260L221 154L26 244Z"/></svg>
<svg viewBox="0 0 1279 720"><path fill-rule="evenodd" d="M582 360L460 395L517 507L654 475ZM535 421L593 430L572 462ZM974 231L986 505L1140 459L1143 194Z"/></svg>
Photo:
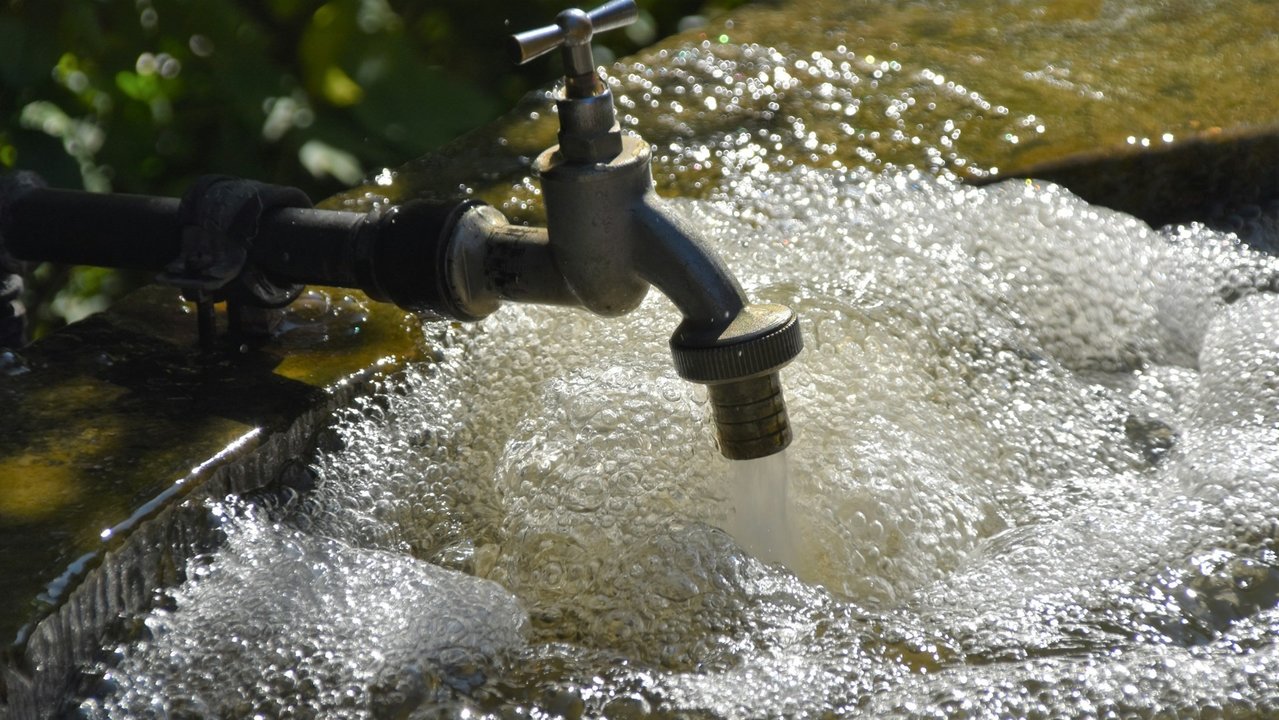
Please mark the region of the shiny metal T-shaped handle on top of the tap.
<svg viewBox="0 0 1279 720"><path fill-rule="evenodd" d="M560 47L564 52L564 77L570 96L599 95L591 38L597 32L625 27L638 17L640 8L634 0L613 0L590 13L569 8L555 17L555 24L513 36L517 63L523 65Z"/></svg>

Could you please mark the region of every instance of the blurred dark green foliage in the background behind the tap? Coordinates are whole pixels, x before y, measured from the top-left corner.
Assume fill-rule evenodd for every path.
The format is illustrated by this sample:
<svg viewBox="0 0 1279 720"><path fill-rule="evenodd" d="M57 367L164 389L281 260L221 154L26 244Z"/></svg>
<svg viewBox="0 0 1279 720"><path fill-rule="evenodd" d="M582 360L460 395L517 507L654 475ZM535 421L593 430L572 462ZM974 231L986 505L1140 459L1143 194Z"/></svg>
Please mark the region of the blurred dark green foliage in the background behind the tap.
<svg viewBox="0 0 1279 720"><path fill-rule="evenodd" d="M601 36L627 55L744 0L638 0ZM572 0L0 0L0 169L50 185L179 196L202 174L321 198L495 118L558 60L517 68L513 32ZM133 279L42 266L33 329Z"/></svg>

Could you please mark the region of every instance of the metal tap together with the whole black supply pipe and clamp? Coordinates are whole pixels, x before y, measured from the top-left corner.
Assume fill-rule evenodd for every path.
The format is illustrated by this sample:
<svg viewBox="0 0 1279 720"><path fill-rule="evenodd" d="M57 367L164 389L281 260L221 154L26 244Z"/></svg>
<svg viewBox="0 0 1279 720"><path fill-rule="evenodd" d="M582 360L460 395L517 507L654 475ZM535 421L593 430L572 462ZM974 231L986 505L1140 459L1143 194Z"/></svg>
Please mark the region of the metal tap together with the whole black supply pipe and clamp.
<svg viewBox="0 0 1279 720"><path fill-rule="evenodd" d="M207 308L201 317L216 299L279 307L304 283L359 288L463 321L503 301L613 317L655 285L683 315L670 338L675 370L709 386L720 451L729 459L779 453L792 439L779 371L803 348L799 322L788 307L749 302L698 229L655 192L648 143L622 133L591 38L637 13L633 0L613 0L514 36L521 63L555 49L564 60L559 145L533 164L545 229L512 225L478 201L418 201L363 215L312 210L297 191L226 178L197 183L180 203L86 198L27 179L0 183L0 251L8 244L22 260L162 270L162 281ZM96 215L106 208L118 216ZM113 262L106 246L81 247L86 228L155 229L159 239L136 242L151 249Z"/></svg>

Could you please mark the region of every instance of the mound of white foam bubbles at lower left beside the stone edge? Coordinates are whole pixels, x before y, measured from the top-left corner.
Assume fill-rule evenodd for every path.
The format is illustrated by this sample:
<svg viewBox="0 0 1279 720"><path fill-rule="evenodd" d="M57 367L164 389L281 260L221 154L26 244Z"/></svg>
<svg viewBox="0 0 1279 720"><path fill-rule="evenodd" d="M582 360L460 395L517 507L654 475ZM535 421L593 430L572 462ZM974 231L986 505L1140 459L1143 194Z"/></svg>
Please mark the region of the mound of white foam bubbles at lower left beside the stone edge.
<svg viewBox="0 0 1279 720"><path fill-rule="evenodd" d="M523 645L527 616L491 582L214 512L225 546L146 618L91 714L386 716L480 683Z"/></svg>

